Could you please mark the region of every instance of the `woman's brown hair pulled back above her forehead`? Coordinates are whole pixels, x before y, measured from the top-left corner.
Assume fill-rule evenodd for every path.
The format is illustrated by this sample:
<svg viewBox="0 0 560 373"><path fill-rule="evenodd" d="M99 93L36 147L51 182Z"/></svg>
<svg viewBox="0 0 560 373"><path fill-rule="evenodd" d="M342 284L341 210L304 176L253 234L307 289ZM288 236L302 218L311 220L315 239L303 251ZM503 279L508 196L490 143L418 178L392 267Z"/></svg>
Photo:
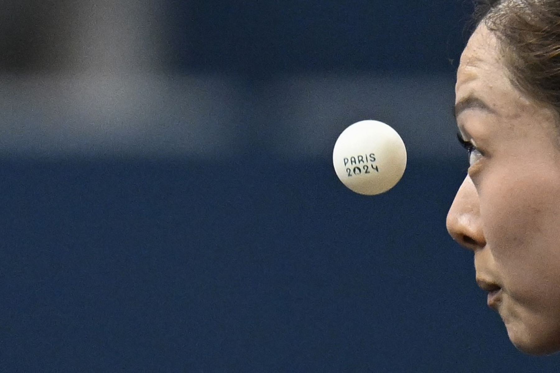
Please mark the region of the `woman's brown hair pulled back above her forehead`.
<svg viewBox="0 0 560 373"><path fill-rule="evenodd" d="M560 113L560 1L479 1L475 22L500 40L512 83Z"/></svg>

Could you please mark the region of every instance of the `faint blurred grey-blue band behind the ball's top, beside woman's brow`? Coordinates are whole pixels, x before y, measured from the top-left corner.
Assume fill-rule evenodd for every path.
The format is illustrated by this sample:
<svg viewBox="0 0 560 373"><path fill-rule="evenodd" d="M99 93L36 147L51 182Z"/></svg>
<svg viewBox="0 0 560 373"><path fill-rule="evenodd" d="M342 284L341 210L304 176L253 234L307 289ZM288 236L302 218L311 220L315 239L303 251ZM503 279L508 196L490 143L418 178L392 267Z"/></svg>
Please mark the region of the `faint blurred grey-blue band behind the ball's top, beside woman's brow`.
<svg viewBox="0 0 560 373"><path fill-rule="evenodd" d="M375 119L403 138L409 157L457 157L454 77L443 74L284 76L259 85L267 148L286 158L332 154L349 125Z"/></svg>

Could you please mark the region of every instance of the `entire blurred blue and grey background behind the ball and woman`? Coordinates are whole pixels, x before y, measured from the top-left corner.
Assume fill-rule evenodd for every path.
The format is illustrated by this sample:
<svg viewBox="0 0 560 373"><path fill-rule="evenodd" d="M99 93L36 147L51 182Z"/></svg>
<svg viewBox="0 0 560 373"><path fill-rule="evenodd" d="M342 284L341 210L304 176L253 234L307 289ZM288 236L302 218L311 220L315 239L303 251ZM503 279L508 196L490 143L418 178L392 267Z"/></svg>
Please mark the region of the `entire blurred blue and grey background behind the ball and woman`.
<svg viewBox="0 0 560 373"><path fill-rule="evenodd" d="M445 217L470 0L20 0L0 15L0 371L554 371ZM408 147L353 194L362 119Z"/></svg>

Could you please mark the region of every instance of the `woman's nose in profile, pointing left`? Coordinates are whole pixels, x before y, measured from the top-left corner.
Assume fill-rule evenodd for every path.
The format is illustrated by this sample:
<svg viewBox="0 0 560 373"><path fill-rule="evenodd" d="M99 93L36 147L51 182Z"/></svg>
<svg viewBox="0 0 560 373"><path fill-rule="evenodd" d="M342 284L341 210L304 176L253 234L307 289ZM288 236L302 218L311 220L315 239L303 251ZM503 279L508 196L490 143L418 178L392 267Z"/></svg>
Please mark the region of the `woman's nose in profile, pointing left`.
<svg viewBox="0 0 560 373"><path fill-rule="evenodd" d="M478 192L469 176L459 187L447 213L447 231L460 245L476 251L486 245L480 218Z"/></svg>

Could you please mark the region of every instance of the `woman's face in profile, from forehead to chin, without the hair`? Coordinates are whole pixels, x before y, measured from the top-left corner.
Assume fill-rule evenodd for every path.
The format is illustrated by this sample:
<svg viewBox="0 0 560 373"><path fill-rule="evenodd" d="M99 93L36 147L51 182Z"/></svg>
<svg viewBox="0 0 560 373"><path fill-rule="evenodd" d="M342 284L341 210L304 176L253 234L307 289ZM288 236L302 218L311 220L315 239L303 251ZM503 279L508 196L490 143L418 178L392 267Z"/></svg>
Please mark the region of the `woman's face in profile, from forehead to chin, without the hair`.
<svg viewBox="0 0 560 373"><path fill-rule="evenodd" d="M477 282L511 342L535 355L560 351L557 115L510 83L484 26L461 56L455 94L460 133L473 147L447 230L473 251Z"/></svg>

